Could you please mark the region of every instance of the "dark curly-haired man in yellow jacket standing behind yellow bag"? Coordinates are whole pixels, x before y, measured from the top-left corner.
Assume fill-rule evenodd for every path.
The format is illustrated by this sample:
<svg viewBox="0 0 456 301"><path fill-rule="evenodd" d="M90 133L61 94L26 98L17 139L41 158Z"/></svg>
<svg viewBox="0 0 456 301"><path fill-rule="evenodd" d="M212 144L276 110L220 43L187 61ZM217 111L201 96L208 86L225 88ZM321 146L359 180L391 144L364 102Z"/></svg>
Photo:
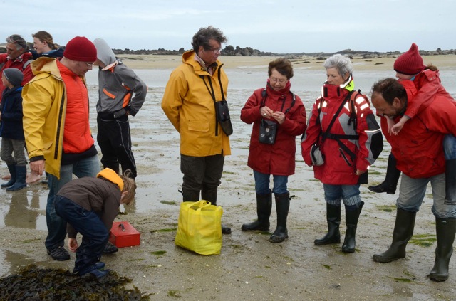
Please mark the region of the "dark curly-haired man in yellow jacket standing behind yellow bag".
<svg viewBox="0 0 456 301"><path fill-rule="evenodd" d="M217 60L226 42L218 28L200 28L193 36L193 50L183 54L163 95L162 109L180 133L183 201L199 201L201 191L201 199L217 205L224 156L231 154L231 132L225 133L224 122L216 117L216 106L227 97L228 78ZM222 225L222 233L231 229Z"/></svg>

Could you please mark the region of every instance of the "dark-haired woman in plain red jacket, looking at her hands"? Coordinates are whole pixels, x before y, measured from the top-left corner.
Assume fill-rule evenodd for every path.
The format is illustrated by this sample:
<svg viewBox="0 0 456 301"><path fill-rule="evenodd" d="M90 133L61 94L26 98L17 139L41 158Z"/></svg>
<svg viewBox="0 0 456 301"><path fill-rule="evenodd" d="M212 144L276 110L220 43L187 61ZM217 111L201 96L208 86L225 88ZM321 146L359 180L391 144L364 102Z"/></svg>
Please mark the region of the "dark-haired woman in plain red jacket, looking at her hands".
<svg viewBox="0 0 456 301"><path fill-rule="evenodd" d="M288 238L286 218L290 206L288 176L294 174L296 136L306 130L306 109L291 93L293 66L286 58L269 63L266 88L255 90L241 110L241 120L253 123L248 165L254 170L258 220L244 223L242 231L269 231L272 192L276 199L277 227L269 241L281 243ZM269 189L273 175L274 186Z"/></svg>

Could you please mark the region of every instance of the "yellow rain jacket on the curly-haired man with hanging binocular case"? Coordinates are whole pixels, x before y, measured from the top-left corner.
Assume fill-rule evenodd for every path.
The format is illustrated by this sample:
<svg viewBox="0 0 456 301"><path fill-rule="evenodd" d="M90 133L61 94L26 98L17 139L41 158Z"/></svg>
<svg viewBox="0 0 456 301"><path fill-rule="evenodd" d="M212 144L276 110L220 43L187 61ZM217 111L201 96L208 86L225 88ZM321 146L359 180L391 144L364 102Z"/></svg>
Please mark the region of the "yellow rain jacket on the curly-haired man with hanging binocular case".
<svg viewBox="0 0 456 301"><path fill-rule="evenodd" d="M212 98L221 101L227 97L228 78L219 60L216 63L210 75L195 60L195 51L187 51L165 88L162 109L180 133L180 153L186 156L231 154L229 137L216 120Z"/></svg>

